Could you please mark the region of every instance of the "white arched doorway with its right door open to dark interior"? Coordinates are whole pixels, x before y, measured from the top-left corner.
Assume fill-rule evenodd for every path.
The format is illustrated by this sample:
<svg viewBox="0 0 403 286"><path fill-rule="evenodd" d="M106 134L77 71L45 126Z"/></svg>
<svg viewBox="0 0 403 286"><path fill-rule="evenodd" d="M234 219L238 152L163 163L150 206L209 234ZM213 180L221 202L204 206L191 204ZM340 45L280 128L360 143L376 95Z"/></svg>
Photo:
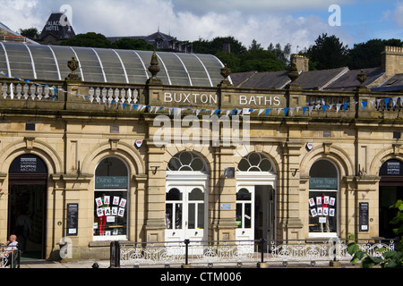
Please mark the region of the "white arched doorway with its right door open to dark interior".
<svg viewBox="0 0 403 286"><path fill-rule="evenodd" d="M273 240L277 173L268 156L250 153L236 170L236 240Z"/></svg>

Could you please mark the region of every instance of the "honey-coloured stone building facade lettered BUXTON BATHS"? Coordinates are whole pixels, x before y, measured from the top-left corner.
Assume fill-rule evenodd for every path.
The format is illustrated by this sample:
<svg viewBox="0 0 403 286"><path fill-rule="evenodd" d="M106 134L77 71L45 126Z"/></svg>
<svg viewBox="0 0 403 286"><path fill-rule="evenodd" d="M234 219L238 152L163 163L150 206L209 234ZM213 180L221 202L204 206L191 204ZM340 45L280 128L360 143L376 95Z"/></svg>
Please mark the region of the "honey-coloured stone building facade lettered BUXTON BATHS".
<svg viewBox="0 0 403 286"><path fill-rule="evenodd" d="M193 77L194 58L175 84L176 55L148 52L141 83L108 81L107 62L102 81L86 71L90 50L75 52L69 69L57 57L55 78L18 78L10 63L0 79L1 238L23 210L27 247L51 259L66 239L82 259L109 257L113 240L390 237L403 93L373 92L364 74L348 91L304 89L297 75L285 88L237 88L201 55L203 72Z"/></svg>

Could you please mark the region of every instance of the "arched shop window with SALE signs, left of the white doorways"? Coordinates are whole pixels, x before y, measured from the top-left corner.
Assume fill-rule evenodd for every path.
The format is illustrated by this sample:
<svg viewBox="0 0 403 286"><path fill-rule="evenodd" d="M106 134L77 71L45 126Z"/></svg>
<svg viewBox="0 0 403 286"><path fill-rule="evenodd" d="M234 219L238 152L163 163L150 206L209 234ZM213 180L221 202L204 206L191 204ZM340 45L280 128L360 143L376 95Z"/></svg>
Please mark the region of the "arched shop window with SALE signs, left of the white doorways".
<svg viewBox="0 0 403 286"><path fill-rule="evenodd" d="M129 173L124 162L107 157L95 171L93 235L125 239L127 235Z"/></svg>

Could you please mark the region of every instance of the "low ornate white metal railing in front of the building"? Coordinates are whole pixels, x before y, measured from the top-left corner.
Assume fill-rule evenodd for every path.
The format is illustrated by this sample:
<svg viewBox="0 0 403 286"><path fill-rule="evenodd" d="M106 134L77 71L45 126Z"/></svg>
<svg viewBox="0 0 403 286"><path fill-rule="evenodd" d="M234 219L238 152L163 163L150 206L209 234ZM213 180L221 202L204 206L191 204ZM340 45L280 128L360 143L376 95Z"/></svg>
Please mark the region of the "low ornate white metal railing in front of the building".
<svg viewBox="0 0 403 286"><path fill-rule="evenodd" d="M318 261L349 261L347 240L203 240L129 243L113 241L110 267L229 264L242 267L257 263L289 262L316 265ZM395 240L356 240L360 250L373 257L394 250Z"/></svg>

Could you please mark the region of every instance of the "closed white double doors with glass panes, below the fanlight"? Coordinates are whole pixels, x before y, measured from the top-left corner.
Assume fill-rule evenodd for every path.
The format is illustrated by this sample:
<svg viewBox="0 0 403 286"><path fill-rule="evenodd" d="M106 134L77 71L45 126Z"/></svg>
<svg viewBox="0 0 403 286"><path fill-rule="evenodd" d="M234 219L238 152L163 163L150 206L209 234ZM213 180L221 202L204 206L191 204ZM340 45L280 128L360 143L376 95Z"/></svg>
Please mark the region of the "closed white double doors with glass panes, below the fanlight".
<svg viewBox="0 0 403 286"><path fill-rule="evenodd" d="M203 186L167 188L165 236L167 241L200 241L205 238L206 191Z"/></svg>

